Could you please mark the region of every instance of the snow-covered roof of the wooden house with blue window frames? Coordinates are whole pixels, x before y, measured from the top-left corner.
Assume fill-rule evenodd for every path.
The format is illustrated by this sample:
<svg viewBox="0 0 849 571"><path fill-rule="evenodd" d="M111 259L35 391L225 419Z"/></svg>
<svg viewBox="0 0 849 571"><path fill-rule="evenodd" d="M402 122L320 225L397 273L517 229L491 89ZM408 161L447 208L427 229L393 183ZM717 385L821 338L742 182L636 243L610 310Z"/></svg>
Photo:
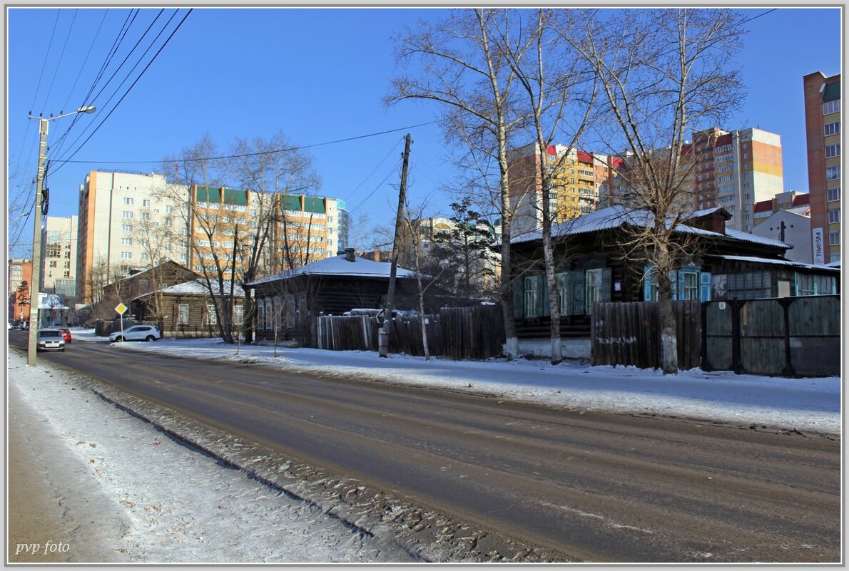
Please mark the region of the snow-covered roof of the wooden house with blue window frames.
<svg viewBox="0 0 849 571"><path fill-rule="evenodd" d="M688 216L686 216L686 218L698 218L700 216L707 216L714 212L725 212L726 214L728 214L727 210L723 209L720 206L717 206L714 208L698 210L696 212L690 213ZM576 234L583 234L588 232L600 232L602 230L611 230L613 228L618 228L626 225L636 227L648 227L650 224L653 223L652 216L654 215L649 210L632 210L627 208L626 206L622 206L621 204L616 204L608 208L595 210L594 212L590 212L589 214L586 214L584 216L578 216L577 218L572 218L570 220L560 222L559 224L552 227L551 235L553 237L574 236ZM668 224L672 224L671 219ZM704 230L702 228L688 226L680 222L676 226L676 230L678 232L696 234L700 236L714 238L732 238L741 242L752 242L754 244L764 244L784 249L792 248L790 244L785 244L784 242L779 242L778 240L773 240L771 238L761 238L760 236L755 236L754 234L750 234L747 232L738 232L736 230L726 230L724 234L721 234L719 232L711 232L710 230ZM521 244L523 242L531 242L533 240L541 239L543 239L542 232L528 232L526 234L522 234L520 237L512 239L510 242L511 244Z"/></svg>

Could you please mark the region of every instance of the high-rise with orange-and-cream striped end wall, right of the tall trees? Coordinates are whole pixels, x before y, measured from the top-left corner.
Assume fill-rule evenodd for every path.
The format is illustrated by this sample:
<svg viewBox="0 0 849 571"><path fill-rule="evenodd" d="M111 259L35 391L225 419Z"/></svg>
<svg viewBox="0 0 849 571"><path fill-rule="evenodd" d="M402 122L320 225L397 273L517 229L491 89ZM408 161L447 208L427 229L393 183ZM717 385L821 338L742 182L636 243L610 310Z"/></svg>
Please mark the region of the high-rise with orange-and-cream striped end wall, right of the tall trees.
<svg viewBox="0 0 849 571"><path fill-rule="evenodd" d="M682 149L693 167L694 210L722 206L731 214L725 226L749 232L755 226L755 203L784 192L781 137L762 129L695 133ZM695 164L693 164L693 162Z"/></svg>

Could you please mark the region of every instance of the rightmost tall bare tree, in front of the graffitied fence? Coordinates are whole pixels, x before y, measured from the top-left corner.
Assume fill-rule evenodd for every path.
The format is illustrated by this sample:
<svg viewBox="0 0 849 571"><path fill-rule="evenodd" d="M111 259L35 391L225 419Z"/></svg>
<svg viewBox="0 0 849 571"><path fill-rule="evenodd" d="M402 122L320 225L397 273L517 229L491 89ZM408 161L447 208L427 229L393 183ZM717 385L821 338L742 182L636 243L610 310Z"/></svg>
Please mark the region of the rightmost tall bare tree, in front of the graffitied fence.
<svg viewBox="0 0 849 571"><path fill-rule="evenodd" d="M606 16L606 17L605 17ZM627 247L654 266L661 304L662 369L678 372L671 272L689 255L677 244L694 201L689 137L739 108L744 85L731 59L742 46L742 16L731 9L582 13L582 36L564 36L593 67L613 125L630 151L625 171L633 207L648 212ZM611 33L615 32L615 33Z"/></svg>

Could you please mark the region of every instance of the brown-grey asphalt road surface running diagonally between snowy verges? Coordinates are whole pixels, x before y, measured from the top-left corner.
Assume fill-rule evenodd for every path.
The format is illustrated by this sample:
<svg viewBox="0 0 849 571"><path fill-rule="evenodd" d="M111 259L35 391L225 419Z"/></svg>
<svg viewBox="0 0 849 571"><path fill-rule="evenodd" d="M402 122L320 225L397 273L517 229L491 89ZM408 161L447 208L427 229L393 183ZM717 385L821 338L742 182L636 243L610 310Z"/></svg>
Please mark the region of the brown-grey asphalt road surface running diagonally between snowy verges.
<svg viewBox="0 0 849 571"><path fill-rule="evenodd" d="M10 338L25 344L23 335ZM74 343L38 358L576 560L841 561L838 439L290 375L109 344Z"/></svg>

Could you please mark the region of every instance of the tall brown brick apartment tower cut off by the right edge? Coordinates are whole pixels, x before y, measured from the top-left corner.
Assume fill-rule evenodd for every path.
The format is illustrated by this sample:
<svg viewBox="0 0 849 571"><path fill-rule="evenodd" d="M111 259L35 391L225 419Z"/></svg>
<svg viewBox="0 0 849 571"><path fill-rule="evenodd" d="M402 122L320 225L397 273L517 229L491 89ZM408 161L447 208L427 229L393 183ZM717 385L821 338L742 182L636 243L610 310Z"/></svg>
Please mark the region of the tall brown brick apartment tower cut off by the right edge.
<svg viewBox="0 0 849 571"><path fill-rule="evenodd" d="M803 78L813 263L841 260L841 76Z"/></svg>

